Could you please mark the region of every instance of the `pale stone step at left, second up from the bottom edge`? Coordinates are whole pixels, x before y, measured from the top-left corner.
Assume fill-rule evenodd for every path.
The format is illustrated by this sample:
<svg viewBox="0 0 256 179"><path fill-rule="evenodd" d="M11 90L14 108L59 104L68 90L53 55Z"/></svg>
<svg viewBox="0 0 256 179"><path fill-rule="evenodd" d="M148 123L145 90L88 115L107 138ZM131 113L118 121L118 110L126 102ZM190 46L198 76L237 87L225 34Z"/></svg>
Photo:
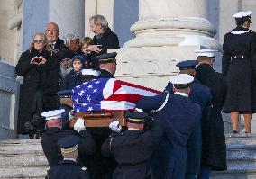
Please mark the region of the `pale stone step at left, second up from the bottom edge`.
<svg viewBox="0 0 256 179"><path fill-rule="evenodd" d="M0 166L48 166L43 154L2 155L0 160Z"/></svg>

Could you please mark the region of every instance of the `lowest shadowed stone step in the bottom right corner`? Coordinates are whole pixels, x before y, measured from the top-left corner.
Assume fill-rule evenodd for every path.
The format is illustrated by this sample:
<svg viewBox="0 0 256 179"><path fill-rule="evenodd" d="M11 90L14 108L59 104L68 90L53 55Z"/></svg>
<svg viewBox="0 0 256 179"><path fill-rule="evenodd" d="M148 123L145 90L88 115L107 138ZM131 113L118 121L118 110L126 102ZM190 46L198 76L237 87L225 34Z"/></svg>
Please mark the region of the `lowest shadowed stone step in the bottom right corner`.
<svg viewBox="0 0 256 179"><path fill-rule="evenodd" d="M212 172L210 179L255 179L256 169L229 169Z"/></svg>

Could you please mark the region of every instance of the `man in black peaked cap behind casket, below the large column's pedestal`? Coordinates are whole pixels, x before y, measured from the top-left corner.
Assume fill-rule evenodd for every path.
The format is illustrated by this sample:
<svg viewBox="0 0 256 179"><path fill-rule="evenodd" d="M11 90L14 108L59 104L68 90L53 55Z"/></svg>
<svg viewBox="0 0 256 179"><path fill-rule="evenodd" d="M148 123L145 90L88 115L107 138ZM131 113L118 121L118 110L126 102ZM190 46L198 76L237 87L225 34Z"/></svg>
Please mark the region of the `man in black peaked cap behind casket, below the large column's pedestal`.
<svg viewBox="0 0 256 179"><path fill-rule="evenodd" d="M116 57L117 53L106 53L96 57L99 63L99 76L98 78L114 78L116 71Z"/></svg>

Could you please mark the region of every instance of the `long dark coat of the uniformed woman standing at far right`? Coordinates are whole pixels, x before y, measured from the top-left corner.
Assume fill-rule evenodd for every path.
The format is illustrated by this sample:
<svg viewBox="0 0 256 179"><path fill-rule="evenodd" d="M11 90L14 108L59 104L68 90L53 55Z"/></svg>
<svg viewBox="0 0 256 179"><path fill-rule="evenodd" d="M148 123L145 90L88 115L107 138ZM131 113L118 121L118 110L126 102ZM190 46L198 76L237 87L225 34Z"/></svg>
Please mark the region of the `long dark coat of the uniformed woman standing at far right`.
<svg viewBox="0 0 256 179"><path fill-rule="evenodd" d="M238 26L224 36L224 112L256 112L256 33ZM244 56L244 58L233 58Z"/></svg>

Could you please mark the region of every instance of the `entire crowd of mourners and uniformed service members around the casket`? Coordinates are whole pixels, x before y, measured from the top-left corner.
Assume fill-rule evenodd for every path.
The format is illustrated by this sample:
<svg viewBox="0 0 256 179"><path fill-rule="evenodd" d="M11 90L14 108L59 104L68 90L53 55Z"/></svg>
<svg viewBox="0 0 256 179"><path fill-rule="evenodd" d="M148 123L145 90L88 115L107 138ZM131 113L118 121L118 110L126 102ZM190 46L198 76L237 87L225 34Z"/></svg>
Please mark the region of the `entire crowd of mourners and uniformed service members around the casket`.
<svg viewBox="0 0 256 179"><path fill-rule="evenodd" d="M88 128L82 119L69 128L72 107L59 103L83 82L114 78L117 54L107 49L119 49L119 40L105 17L90 18L93 39L66 34L60 40L54 22L36 33L15 67L23 76L18 134L41 138L50 166L46 178L208 179L226 170L221 112L231 113L235 136L239 114L248 135L256 111L251 11L233 17L237 27L224 37L222 74L213 68L214 49L195 51L195 60L178 59L179 74L165 89L142 97L138 112L125 112L125 126L112 121L109 128Z"/></svg>

